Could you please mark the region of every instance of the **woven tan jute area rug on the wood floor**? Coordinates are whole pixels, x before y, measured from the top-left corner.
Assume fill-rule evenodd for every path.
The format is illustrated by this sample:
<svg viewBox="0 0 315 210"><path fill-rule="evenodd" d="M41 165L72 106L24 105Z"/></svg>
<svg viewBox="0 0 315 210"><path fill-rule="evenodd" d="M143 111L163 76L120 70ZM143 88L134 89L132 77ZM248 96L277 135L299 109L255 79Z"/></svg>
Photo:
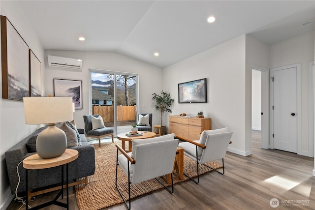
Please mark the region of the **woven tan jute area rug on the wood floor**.
<svg viewBox="0 0 315 210"><path fill-rule="evenodd" d="M95 144L95 174L89 176L88 185L75 186L75 193L80 210L100 210L106 207L110 207L116 204L123 203L123 199L119 195L119 192L115 186L116 177L116 144L121 146L121 141L114 143L106 142L102 143L101 147ZM120 154L120 153L119 153ZM207 163L214 169L221 168L222 165L216 162ZM199 173L204 174L212 171L212 169L199 165ZM196 162L191 160L188 156L184 155L184 173L191 177L196 177ZM127 176L118 167L118 184L125 198L128 197L128 185ZM158 178L160 181L166 184L165 178ZM178 183L188 180L184 176L184 180L179 180L176 172L173 175L173 182ZM167 184L166 184L167 185ZM148 180L131 185L131 199L140 195L147 194L157 189L163 188L157 180ZM176 186L174 186L176 191Z"/></svg>

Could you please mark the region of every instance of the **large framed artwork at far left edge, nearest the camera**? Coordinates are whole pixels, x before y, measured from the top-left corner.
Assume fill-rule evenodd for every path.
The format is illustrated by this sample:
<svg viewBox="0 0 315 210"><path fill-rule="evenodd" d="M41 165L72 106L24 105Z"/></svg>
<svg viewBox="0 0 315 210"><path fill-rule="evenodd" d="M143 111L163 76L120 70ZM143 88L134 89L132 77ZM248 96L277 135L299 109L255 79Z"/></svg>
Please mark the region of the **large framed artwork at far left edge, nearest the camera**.
<svg viewBox="0 0 315 210"><path fill-rule="evenodd" d="M1 20L2 98L29 96L29 46L5 17Z"/></svg>

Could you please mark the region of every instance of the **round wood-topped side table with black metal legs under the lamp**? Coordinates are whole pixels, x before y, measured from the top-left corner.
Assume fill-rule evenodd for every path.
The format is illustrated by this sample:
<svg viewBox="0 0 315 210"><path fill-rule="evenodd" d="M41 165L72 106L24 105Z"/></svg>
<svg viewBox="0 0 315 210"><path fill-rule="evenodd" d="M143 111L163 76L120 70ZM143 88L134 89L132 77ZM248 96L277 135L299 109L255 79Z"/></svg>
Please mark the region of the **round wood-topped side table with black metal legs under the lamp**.
<svg viewBox="0 0 315 210"><path fill-rule="evenodd" d="M62 189L55 197L54 200L49 201L47 203L41 204L39 206L33 207L32 210L41 209L50 205L57 205L63 208L69 209L69 191L68 191L68 163L77 159L79 156L78 150L67 149L61 156L54 158L41 158L38 154L33 154L23 160L23 167L25 168L25 183L26 183L26 209L29 209L29 186L28 186L28 170L36 170L36 169L46 169L53 168L57 166L61 166L62 171ZM57 201L57 199L62 195L63 197L63 165L66 165L66 191L67 191L67 203L62 203Z"/></svg>

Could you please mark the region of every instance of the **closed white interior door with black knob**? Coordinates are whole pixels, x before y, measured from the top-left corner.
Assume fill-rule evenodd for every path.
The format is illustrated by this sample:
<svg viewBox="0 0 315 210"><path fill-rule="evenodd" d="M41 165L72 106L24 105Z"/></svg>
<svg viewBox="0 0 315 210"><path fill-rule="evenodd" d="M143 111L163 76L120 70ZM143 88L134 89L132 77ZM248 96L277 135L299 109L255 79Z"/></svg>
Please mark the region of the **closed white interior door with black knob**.
<svg viewBox="0 0 315 210"><path fill-rule="evenodd" d="M274 149L297 153L297 68L273 72Z"/></svg>

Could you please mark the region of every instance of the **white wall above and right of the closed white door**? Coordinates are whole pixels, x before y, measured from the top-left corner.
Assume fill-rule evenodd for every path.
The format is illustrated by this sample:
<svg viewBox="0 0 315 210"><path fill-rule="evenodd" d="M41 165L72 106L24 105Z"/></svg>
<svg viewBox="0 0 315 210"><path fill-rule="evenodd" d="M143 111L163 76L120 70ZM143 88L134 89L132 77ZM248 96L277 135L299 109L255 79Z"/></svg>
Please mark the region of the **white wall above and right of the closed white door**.
<svg viewBox="0 0 315 210"><path fill-rule="evenodd" d="M309 139L309 61L314 60L314 32L270 46L270 68L301 63L301 153L313 156ZM299 113L298 113L299 114ZM298 146L298 148L299 148Z"/></svg>

